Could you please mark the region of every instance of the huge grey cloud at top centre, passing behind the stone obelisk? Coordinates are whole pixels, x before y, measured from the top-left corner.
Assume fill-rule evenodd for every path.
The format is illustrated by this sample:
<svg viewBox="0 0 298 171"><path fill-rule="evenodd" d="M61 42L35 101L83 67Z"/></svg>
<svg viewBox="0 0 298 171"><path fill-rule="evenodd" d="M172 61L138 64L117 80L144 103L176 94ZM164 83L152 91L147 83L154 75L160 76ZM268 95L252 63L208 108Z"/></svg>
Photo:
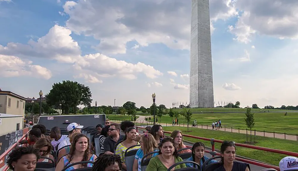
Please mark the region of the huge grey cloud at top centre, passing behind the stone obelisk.
<svg viewBox="0 0 298 171"><path fill-rule="evenodd" d="M126 43L139 46L163 43L173 49L190 49L191 1L115 0L66 1L66 27L100 40L94 46L104 54L126 53ZM210 20L228 19L238 12L231 0L210 0ZM211 24L211 32L214 27Z"/></svg>

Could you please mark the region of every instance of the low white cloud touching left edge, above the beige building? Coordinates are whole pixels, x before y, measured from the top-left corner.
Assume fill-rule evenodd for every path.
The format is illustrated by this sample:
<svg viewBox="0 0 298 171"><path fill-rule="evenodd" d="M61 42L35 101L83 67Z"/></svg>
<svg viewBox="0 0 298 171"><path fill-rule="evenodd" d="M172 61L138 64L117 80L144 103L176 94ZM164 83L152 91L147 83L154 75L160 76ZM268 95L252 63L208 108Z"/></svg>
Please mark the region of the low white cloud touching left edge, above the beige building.
<svg viewBox="0 0 298 171"><path fill-rule="evenodd" d="M23 61L16 56L0 55L0 76L31 76L47 80L52 77L52 73L45 67L32 65L32 61Z"/></svg>

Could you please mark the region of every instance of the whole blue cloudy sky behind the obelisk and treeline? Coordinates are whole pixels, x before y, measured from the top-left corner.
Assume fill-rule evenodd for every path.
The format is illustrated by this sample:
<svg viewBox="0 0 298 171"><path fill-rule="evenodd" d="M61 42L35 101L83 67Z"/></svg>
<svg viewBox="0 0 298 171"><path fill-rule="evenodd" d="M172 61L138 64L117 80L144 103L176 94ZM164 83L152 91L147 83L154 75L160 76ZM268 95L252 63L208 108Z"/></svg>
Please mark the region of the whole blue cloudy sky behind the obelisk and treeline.
<svg viewBox="0 0 298 171"><path fill-rule="evenodd" d="M298 105L298 1L209 0L214 100ZM191 0L0 0L0 88L189 104Z"/></svg>

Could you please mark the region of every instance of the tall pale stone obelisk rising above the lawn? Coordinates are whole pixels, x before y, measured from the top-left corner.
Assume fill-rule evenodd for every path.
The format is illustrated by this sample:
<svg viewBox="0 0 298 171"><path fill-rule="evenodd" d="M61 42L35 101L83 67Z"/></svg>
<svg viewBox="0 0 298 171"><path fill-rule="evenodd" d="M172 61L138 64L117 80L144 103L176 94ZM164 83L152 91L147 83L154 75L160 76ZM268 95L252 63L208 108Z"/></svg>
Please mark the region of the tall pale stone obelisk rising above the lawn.
<svg viewBox="0 0 298 171"><path fill-rule="evenodd" d="M214 107L209 0L191 0L190 107Z"/></svg>

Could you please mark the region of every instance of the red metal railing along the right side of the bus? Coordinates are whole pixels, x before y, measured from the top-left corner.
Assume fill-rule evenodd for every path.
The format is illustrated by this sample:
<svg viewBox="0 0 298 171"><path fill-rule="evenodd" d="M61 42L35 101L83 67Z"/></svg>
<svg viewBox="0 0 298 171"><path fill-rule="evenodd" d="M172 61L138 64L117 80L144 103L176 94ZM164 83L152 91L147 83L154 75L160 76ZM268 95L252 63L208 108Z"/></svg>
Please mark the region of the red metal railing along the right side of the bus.
<svg viewBox="0 0 298 171"><path fill-rule="evenodd" d="M144 127L137 127L136 129L145 129ZM164 131L164 133L168 133L170 134L171 132L169 131ZM212 152L212 154L215 153L215 144L212 143L213 142L218 142L218 143L223 143L224 141L222 140L216 140L213 138L205 138L205 137L198 137L198 136L194 136L194 135L187 135L187 134L183 134L183 136L185 137L190 137L190 138L195 138L195 139L200 139L200 140L205 140L205 141L211 141L211 145L212 145L212 151L209 150L205 150L205 152ZM271 149L271 148L266 148L266 147L258 147L258 146L253 146L253 145L248 145L248 144L241 144L241 143L235 143L235 146L239 146L239 147L246 147L246 148L250 148L250 149L255 149L255 150L263 150L263 151L268 151L268 152L274 152L274 153L278 153L278 154L284 154L284 155L290 155L290 156L295 156L298 157L298 153L297 152L289 152L289 151L283 151L283 150L276 150L276 149ZM187 146L187 147L191 147L191 146ZM221 155L220 153L215 153L216 155ZM261 162L257 162L257 161L252 161L252 160L247 160L244 158L239 158L236 157L235 158L238 161L242 161L245 163L249 163L249 164L253 164L253 165L257 165L260 167L266 167L266 168L273 168L276 170L280 170L278 166L274 166L274 165L270 165L270 164L266 164L266 163L261 163Z"/></svg>

